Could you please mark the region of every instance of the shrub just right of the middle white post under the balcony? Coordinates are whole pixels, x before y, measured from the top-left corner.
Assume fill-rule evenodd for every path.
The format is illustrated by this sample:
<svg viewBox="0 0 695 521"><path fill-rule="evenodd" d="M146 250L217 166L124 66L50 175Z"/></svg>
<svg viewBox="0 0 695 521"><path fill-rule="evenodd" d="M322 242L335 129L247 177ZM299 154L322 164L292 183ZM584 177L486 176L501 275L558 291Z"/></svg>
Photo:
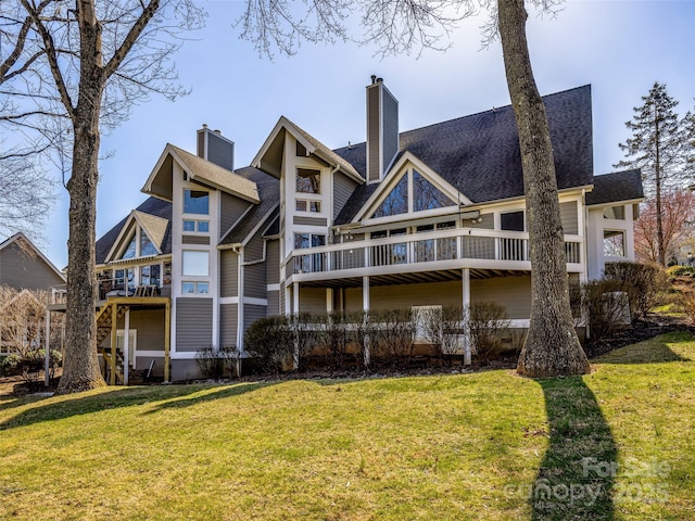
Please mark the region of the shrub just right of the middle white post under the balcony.
<svg viewBox="0 0 695 521"><path fill-rule="evenodd" d="M367 331L375 358L397 363L400 358L413 356L416 325L409 309L370 312Z"/></svg>

